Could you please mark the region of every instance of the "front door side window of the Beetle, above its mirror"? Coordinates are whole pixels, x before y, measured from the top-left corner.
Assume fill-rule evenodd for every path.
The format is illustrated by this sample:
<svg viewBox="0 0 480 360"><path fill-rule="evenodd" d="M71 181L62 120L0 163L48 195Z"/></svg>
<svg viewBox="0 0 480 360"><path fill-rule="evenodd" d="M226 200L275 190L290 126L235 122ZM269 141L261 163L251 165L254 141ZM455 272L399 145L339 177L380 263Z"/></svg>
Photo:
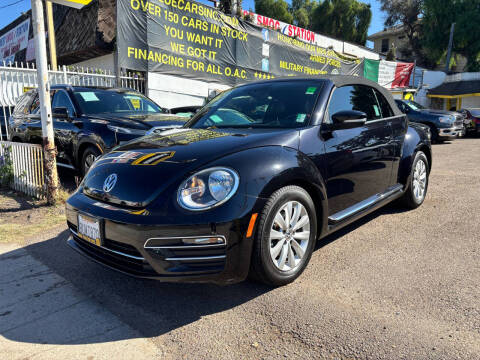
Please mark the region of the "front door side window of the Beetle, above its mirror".
<svg viewBox="0 0 480 360"><path fill-rule="evenodd" d="M382 118L373 88L366 85L349 85L335 89L328 106L327 122L332 123L332 115L338 111L357 110L367 114L367 121Z"/></svg>

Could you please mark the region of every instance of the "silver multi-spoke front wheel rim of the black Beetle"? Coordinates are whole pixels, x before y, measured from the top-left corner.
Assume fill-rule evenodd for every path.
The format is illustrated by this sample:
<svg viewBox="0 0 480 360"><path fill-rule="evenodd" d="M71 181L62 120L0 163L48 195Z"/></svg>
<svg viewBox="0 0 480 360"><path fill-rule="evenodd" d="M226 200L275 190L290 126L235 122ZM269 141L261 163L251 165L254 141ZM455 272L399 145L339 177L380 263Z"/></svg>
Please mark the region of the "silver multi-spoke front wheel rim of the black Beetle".
<svg viewBox="0 0 480 360"><path fill-rule="evenodd" d="M298 267L310 240L310 218L298 201L289 201L275 215L270 229L270 256L281 271Z"/></svg>

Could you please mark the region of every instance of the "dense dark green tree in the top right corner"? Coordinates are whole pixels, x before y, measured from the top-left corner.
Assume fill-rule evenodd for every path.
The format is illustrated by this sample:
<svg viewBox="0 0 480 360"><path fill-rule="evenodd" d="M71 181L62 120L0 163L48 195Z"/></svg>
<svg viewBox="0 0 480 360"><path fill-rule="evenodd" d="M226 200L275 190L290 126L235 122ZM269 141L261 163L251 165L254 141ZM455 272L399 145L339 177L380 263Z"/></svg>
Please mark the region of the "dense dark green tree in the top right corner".
<svg viewBox="0 0 480 360"><path fill-rule="evenodd" d="M480 0L424 0L424 45L430 58L445 61L450 27L455 23L452 53L467 59L467 71L480 71L478 22Z"/></svg>

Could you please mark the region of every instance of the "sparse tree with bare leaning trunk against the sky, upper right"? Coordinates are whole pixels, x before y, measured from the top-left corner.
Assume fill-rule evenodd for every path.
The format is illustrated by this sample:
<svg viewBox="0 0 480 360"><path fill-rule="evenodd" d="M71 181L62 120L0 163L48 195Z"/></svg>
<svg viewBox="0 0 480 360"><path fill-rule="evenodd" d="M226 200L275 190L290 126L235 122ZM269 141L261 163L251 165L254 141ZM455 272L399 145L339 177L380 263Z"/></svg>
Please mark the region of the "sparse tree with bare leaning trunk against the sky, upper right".
<svg viewBox="0 0 480 360"><path fill-rule="evenodd" d="M420 65L431 65L423 51L421 42L422 24L419 18L423 14L424 0L380 0L381 9L387 14L385 26L402 25L407 36L407 46L400 51L407 57L417 59Z"/></svg>

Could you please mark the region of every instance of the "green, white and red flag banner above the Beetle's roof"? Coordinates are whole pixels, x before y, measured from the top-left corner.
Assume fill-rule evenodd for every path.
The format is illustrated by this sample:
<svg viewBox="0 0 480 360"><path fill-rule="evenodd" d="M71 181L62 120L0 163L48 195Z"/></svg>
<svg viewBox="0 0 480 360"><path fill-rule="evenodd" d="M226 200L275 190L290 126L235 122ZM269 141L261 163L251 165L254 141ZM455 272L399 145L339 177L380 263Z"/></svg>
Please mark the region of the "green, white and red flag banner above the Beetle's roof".
<svg viewBox="0 0 480 360"><path fill-rule="evenodd" d="M413 63L365 59L363 76L386 88L403 88L408 87L413 68Z"/></svg>

